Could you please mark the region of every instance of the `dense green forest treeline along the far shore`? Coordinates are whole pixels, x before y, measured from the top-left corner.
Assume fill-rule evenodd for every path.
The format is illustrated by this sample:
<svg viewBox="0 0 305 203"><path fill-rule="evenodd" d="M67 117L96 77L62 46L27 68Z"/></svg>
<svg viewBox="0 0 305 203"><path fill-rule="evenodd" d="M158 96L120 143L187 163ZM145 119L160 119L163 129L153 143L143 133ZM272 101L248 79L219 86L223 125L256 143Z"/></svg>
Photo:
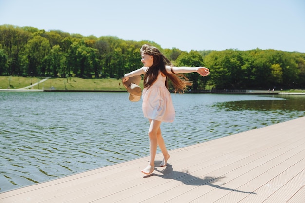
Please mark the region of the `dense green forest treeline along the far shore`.
<svg viewBox="0 0 305 203"><path fill-rule="evenodd" d="M182 51L153 41L82 36L60 30L0 26L0 76L120 78L140 68L144 43L158 47L175 66L205 66L208 77L187 74L191 89L305 88L305 53L279 50Z"/></svg>

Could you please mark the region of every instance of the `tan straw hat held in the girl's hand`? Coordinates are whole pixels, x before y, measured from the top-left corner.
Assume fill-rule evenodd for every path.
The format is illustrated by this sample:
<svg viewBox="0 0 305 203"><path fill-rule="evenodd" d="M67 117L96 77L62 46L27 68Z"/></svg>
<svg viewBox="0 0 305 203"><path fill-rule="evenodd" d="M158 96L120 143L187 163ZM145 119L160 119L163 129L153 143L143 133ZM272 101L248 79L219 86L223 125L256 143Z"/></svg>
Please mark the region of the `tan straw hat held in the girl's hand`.
<svg viewBox="0 0 305 203"><path fill-rule="evenodd" d="M142 89L139 86L141 79L140 75L130 77L126 82L124 82L124 77L122 78L122 83L127 92L129 92L128 99L132 102L137 102L141 99Z"/></svg>

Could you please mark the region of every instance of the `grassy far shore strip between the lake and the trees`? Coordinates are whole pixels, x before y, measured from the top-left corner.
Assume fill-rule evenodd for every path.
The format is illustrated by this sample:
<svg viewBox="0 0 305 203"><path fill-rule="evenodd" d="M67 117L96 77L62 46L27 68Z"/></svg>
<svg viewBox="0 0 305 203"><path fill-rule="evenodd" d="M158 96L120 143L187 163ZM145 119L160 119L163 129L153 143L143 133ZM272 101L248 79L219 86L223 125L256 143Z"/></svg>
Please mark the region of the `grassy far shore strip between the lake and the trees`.
<svg viewBox="0 0 305 203"><path fill-rule="evenodd" d="M143 80L140 82L143 89ZM96 78L83 79L78 77L51 78L51 77L17 77L0 76L0 92L127 92L121 79ZM218 94L295 94L305 95L305 90L230 90L212 89L190 90L185 93L218 93Z"/></svg>

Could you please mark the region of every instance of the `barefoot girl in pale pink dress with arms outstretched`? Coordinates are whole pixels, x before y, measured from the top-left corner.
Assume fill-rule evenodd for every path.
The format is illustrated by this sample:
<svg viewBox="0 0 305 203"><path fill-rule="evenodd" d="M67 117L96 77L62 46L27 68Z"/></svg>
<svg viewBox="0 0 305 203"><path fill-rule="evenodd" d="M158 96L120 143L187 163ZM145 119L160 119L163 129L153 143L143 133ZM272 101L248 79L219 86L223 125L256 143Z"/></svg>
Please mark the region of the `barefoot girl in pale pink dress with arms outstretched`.
<svg viewBox="0 0 305 203"><path fill-rule="evenodd" d="M166 166L170 158L160 129L161 122L172 122L175 118L175 110L170 92L168 91L167 78L172 81L175 88L174 92L183 92L192 83L178 73L197 72L202 76L207 76L210 72L205 67L173 67L172 63L156 47L148 44L144 44L140 51L142 56L141 62L144 66L125 74L124 81L127 81L129 77L145 74L142 109L144 116L150 122L148 130L150 161L148 166L142 170L142 173L148 175L154 170L157 146L159 146L163 154L161 167ZM183 77L183 79L180 77Z"/></svg>

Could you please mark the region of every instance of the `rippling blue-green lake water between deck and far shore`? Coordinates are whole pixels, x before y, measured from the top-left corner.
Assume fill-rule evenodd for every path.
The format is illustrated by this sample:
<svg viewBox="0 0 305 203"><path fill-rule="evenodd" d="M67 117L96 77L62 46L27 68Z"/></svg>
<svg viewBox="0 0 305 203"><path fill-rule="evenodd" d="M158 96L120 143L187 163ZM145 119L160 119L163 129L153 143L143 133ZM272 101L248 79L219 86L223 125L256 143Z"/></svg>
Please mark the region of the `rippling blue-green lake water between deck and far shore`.
<svg viewBox="0 0 305 203"><path fill-rule="evenodd" d="M305 116L301 95L172 100L175 121L161 125L169 150ZM142 103L123 92L0 92L0 119L0 192L149 155Z"/></svg>

